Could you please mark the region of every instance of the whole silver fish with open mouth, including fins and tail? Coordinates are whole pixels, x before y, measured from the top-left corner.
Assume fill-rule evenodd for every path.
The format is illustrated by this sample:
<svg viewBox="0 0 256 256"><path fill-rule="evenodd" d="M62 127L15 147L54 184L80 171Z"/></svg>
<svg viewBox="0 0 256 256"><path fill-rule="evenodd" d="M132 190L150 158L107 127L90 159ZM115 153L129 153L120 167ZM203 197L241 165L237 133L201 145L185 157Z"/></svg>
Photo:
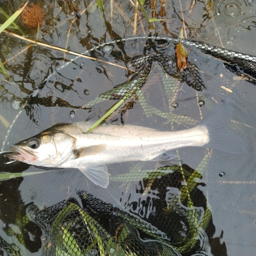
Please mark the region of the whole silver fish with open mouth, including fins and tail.
<svg viewBox="0 0 256 256"><path fill-rule="evenodd" d="M87 133L91 121L62 123L12 145L13 153L6 156L35 166L77 168L106 188L107 164L154 160L167 151L188 146L246 153L244 139L229 129L232 113L231 100L221 101L197 125L180 131L103 123Z"/></svg>

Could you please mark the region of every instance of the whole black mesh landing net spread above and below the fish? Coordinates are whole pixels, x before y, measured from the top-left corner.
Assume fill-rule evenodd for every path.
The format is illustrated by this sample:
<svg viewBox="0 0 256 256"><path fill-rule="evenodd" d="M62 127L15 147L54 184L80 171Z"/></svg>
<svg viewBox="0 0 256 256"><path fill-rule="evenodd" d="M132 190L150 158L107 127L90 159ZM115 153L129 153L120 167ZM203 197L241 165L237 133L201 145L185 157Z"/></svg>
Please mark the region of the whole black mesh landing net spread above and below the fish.
<svg viewBox="0 0 256 256"><path fill-rule="evenodd" d="M206 106L208 112L214 109L216 100L226 98L229 93L216 90L212 84L225 84L225 79L230 80L237 76L242 81L233 79L234 91L242 92L246 86L254 87L256 84L255 57L195 41L183 41L183 44L189 48L190 56L199 56L205 62L196 65L188 61L187 69L179 71L174 57L176 42L172 38L137 37L115 40L87 51L85 54L90 53L99 60L122 63L128 73L124 82L115 84L114 88L99 93L86 105L78 105L76 108L93 112L88 118L90 119L98 115L97 104L108 100L113 104L109 106L108 110L111 110L119 102L120 107L105 120L120 117L121 122L124 122L124 114L129 113L127 110L132 109L138 102L136 115L140 119L153 116L157 122L169 124L175 130L181 126L193 126L202 117L201 111L199 115L189 108L185 109L186 112L177 108L183 104L180 97L182 90L187 93L186 99L196 99L199 106ZM137 45L143 47L137 50ZM224 78L218 76L212 81L214 76L204 72L204 68L211 67L208 60L216 61L209 56L221 59L218 60L218 65L221 63L222 69L226 68ZM74 59L74 63L76 61ZM106 63L105 66L102 63L97 65L97 69L101 68L101 73L105 72L109 76L115 77L120 71ZM220 66L218 65L217 67ZM60 67L59 74L64 70L64 66ZM34 88L28 98L25 110L32 117L34 105L71 106L69 95L66 98L61 97L61 90L56 92L55 101L52 96L47 96L47 87L54 90L62 86L63 89L63 84L54 83L53 80L54 77L49 77L39 87ZM214 96L215 100L208 95ZM104 108L104 111L107 110ZM56 113L51 113L52 116L56 116ZM254 131L253 126L246 125L248 133ZM243 131L245 127L244 123L236 120L230 126L237 132ZM189 154L188 160L194 163L194 168L189 167L189 161L182 163L180 156L185 152L183 149L177 151L178 163L175 164L160 163L160 167L148 167L145 163L136 163L134 167L129 166L126 173L117 166L116 169L120 172L111 173L111 183L106 190L112 203L103 196L94 196L87 189L78 191L79 200L71 198L41 210L34 204L29 205L27 214L30 219L24 209L18 211L18 231L6 227L9 236L15 235L18 247L13 242L8 243L1 239L2 251L9 255L25 255L22 246L29 248L28 244L31 243L28 236L29 225L38 225L44 233L42 252L49 256L205 253L206 249L201 242L209 243L207 232L211 225L211 211L208 198L199 186L204 185L200 179L206 173L212 151L202 148L199 150L200 156L194 152ZM93 184L88 183L87 188L91 187ZM32 234L37 240L40 239L41 233L38 229L37 233Z"/></svg>

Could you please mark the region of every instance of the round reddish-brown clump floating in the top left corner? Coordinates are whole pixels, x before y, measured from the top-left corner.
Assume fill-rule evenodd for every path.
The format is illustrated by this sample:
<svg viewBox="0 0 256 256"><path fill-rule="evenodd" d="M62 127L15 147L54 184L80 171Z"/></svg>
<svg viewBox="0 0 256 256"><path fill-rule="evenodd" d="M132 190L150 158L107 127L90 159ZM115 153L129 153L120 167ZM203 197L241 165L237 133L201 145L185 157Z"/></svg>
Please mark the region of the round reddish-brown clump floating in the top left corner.
<svg viewBox="0 0 256 256"><path fill-rule="evenodd" d="M44 25L44 11L41 9L39 5L30 4L26 6L22 12L22 22L29 29L36 29L38 25Z"/></svg>

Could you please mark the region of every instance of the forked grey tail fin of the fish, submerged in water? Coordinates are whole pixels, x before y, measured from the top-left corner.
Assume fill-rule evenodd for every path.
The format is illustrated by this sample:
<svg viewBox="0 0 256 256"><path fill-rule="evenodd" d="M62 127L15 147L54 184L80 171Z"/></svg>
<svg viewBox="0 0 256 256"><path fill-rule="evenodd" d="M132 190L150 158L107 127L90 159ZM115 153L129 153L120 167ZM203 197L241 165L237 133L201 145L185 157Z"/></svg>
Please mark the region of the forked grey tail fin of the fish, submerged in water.
<svg viewBox="0 0 256 256"><path fill-rule="evenodd" d="M245 141L237 134L228 129L233 105L230 98L220 102L210 114L200 122L205 125L209 133L209 142L204 147L234 154L245 154L247 152Z"/></svg>

